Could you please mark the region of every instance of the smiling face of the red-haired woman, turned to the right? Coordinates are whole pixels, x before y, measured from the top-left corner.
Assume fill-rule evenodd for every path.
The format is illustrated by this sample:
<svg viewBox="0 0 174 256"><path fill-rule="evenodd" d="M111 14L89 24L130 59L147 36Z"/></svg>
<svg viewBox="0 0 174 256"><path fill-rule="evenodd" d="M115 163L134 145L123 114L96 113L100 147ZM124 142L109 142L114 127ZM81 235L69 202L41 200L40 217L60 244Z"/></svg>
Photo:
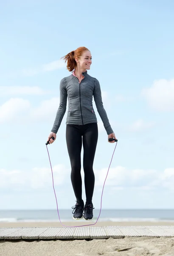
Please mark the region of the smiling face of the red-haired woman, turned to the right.
<svg viewBox="0 0 174 256"><path fill-rule="evenodd" d="M75 58L77 62L77 67L80 70L90 70L90 65L92 63L92 57L90 51L84 51L80 58Z"/></svg>

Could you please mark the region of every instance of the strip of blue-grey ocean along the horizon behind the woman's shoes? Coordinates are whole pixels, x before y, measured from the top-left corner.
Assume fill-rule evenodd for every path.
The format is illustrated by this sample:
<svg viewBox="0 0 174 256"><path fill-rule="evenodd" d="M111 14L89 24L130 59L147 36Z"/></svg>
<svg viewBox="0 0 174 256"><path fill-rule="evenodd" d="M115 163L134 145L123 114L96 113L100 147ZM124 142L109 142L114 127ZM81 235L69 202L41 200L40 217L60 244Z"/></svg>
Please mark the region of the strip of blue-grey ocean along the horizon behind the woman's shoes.
<svg viewBox="0 0 174 256"><path fill-rule="evenodd" d="M73 209L72 209L73 210ZM73 221L71 209L60 209L59 215L62 222ZM94 209L95 221L100 210ZM53 210L0 210L0 222L56 222L59 216ZM150 221L174 222L174 209L102 209L98 221Z"/></svg>

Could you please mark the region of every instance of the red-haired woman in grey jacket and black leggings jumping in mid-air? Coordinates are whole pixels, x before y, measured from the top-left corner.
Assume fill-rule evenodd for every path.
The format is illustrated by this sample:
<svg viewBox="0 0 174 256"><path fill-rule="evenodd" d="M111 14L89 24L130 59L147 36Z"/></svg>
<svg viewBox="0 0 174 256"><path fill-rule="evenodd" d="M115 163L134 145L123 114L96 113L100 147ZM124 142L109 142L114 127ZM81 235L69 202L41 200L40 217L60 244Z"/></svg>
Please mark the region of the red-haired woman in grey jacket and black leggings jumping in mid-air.
<svg viewBox="0 0 174 256"><path fill-rule="evenodd" d="M48 137L52 144L56 140L56 133L66 111L68 98L68 111L66 120L66 142L71 163L71 182L76 196L76 205L73 208L73 218L91 220L93 218L93 190L95 176L93 161L98 140L98 126L93 109L93 96L97 111L104 123L109 138L115 134L109 124L107 113L104 110L100 84L97 79L88 75L92 63L91 53L86 47L79 47L62 57L67 62L67 70L73 73L60 81L60 104L56 113L53 128ZM55 139L52 140L51 137ZM116 138L115 138L116 139ZM114 143L115 141L109 142ZM86 203L82 200L81 180L81 146L83 143L83 169ZM84 214L84 215L83 215Z"/></svg>

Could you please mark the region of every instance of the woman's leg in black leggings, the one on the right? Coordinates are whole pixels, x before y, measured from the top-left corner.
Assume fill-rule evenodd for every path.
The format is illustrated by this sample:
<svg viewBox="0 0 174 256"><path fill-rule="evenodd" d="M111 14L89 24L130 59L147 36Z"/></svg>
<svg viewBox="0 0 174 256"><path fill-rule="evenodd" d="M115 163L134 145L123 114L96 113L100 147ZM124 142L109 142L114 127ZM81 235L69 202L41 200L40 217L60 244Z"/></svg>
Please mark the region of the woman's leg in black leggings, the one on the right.
<svg viewBox="0 0 174 256"><path fill-rule="evenodd" d="M98 141L98 125L90 123L87 125L83 134L83 168L84 168L84 184L86 192L86 205L92 204L95 176L93 172L93 162L95 150Z"/></svg>

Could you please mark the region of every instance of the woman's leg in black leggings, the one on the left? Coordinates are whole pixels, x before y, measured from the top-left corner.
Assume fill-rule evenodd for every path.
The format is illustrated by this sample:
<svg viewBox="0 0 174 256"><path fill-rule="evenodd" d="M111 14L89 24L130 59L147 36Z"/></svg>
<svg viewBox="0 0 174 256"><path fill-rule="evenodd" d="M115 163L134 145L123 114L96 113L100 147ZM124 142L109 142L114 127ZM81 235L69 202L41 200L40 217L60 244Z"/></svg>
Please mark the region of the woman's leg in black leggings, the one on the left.
<svg viewBox="0 0 174 256"><path fill-rule="evenodd" d="M82 138L80 130L76 125L66 126L67 150L71 164L71 182L73 185L76 201L82 203L82 182L81 182L81 145Z"/></svg>

